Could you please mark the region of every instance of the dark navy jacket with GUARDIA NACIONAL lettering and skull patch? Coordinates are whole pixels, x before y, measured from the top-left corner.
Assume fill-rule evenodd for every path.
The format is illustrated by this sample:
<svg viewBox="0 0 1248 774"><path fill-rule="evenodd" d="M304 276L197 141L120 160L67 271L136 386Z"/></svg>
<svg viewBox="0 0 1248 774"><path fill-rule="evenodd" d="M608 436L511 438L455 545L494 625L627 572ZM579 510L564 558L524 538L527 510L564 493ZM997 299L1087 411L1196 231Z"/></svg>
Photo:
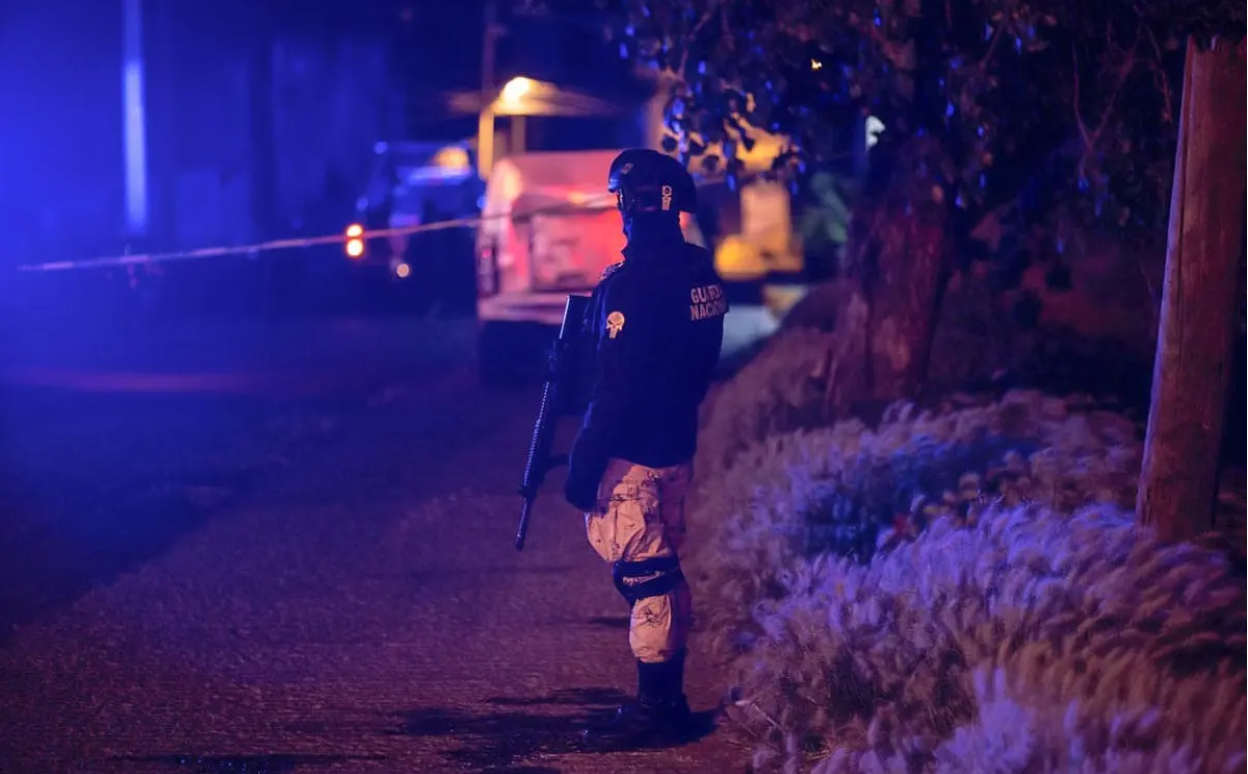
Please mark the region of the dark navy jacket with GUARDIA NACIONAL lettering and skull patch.
<svg viewBox="0 0 1248 774"><path fill-rule="evenodd" d="M569 469L582 487L597 486L613 457L666 467L696 449L728 300L710 253L673 226L633 233L590 300L593 386Z"/></svg>

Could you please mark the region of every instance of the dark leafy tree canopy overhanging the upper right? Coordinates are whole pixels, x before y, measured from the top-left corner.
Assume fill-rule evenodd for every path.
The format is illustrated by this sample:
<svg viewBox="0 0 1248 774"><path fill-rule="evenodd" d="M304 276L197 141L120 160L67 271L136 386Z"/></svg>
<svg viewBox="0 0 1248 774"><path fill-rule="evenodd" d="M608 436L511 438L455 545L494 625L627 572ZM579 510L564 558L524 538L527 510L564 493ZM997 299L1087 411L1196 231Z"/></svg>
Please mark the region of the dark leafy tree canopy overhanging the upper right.
<svg viewBox="0 0 1248 774"><path fill-rule="evenodd" d="M1244 34L1231 0L613 7L622 55L675 76L666 124L684 156L723 142L725 159L705 165L739 174L736 151L759 127L790 139L773 174L802 177L854 154L846 127L872 115L886 126L876 187L901 171L990 253L1061 253L1088 228L1157 243L1184 37Z"/></svg>

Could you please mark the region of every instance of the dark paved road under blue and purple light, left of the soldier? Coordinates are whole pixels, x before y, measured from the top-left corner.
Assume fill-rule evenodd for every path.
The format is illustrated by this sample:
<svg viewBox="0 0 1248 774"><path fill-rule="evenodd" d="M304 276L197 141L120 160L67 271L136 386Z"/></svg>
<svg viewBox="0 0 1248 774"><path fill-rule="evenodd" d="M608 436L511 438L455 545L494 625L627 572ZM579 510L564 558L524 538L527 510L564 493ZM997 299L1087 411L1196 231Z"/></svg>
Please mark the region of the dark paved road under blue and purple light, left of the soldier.
<svg viewBox="0 0 1248 774"><path fill-rule="evenodd" d="M483 392L466 360L293 398L10 389L0 772L738 770L714 734L577 749L633 687L626 609L559 481L512 548L537 394Z"/></svg>

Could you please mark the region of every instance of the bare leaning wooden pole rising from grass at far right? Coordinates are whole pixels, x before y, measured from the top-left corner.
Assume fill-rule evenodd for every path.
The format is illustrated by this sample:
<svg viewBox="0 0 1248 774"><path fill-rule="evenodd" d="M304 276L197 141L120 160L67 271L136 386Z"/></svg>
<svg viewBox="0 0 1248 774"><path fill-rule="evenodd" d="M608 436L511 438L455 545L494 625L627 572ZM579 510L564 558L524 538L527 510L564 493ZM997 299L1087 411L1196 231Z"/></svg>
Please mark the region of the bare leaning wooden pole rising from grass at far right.
<svg viewBox="0 0 1248 774"><path fill-rule="evenodd" d="M1183 72L1166 280L1136 512L1166 541L1213 526L1244 238L1244 64L1229 41Z"/></svg>

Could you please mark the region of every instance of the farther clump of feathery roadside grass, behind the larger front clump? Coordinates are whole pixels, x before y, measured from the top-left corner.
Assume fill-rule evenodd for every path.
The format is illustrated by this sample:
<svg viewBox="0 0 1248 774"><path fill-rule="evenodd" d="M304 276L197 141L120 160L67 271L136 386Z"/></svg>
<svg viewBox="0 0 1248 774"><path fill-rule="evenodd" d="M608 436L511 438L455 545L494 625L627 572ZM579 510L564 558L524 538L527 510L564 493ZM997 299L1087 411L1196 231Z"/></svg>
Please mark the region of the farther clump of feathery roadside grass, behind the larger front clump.
<svg viewBox="0 0 1248 774"><path fill-rule="evenodd" d="M773 434L701 479L689 513L700 539L688 562L700 617L734 653L758 635L754 607L809 558L867 561L941 516L973 523L997 501L1126 507L1137 438L1114 413L1033 391L922 412L897 404L875 429L850 419Z"/></svg>

